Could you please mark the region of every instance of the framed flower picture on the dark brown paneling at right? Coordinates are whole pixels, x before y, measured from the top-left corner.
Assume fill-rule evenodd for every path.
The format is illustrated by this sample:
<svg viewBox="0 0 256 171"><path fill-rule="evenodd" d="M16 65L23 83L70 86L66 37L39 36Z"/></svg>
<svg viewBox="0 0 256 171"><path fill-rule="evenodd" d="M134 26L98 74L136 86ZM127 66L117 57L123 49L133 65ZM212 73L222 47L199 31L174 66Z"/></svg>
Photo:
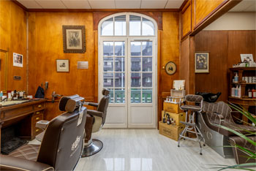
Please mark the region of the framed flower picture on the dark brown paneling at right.
<svg viewBox="0 0 256 171"><path fill-rule="evenodd" d="M209 72L209 53L197 52L195 53L195 73Z"/></svg>

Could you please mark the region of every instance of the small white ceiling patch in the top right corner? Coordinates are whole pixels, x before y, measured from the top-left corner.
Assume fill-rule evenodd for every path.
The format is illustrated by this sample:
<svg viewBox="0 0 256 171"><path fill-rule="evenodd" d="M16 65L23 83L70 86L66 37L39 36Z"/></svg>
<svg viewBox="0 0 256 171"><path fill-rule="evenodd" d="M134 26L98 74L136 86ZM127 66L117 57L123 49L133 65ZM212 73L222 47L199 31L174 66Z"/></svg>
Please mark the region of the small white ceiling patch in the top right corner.
<svg viewBox="0 0 256 171"><path fill-rule="evenodd" d="M256 0L243 0L236 7L230 9L230 12L255 12Z"/></svg>

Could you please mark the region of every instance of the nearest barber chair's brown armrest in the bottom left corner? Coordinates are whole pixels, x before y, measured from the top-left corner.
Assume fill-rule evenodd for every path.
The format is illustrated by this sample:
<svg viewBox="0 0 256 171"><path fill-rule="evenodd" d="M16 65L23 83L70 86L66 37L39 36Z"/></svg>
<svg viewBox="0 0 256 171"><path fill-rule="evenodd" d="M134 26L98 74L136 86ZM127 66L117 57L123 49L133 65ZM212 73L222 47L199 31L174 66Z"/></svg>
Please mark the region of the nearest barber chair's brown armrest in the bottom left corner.
<svg viewBox="0 0 256 171"><path fill-rule="evenodd" d="M13 156L0 155L0 170L54 170L48 164L20 159Z"/></svg>

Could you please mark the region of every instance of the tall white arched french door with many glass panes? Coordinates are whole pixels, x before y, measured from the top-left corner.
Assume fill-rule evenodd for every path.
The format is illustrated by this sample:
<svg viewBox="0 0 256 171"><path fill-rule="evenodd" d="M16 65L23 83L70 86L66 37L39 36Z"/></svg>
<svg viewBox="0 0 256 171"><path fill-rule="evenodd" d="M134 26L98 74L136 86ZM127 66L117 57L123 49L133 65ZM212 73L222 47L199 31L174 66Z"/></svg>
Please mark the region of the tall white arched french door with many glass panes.
<svg viewBox="0 0 256 171"><path fill-rule="evenodd" d="M105 128L157 126L157 23L132 12L99 22L99 99L110 89Z"/></svg>

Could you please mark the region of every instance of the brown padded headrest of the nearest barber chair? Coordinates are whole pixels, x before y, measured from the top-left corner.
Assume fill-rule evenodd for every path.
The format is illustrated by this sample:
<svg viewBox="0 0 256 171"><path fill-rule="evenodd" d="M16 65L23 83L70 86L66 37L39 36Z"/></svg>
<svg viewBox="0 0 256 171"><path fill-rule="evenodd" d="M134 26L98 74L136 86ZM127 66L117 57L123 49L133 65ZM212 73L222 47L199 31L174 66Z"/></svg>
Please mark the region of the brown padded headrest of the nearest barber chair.
<svg viewBox="0 0 256 171"><path fill-rule="evenodd" d="M79 107L78 102L83 99L84 98L80 97L78 94L75 94L73 96L63 96L59 100L59 110L72 113L76 108Z"/></svg>

